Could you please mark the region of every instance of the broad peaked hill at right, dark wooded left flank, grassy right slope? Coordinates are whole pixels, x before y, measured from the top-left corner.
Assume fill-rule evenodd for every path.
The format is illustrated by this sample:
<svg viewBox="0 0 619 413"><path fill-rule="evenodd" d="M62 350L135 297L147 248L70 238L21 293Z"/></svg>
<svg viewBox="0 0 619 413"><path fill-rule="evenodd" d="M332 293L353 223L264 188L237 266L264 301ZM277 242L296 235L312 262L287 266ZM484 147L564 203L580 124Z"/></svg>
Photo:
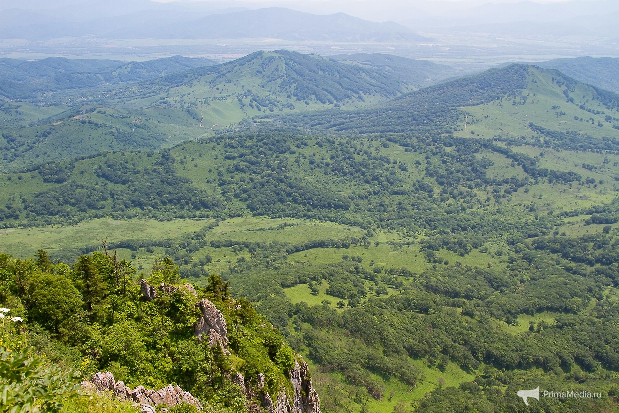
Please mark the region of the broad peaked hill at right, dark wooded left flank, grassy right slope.
<svg viewBox="0 0 619 413"><path fill-rule="evenodd" d="M563 141L568 140L566 134L577 133L600 139L600 147L615 150L614 144L608 146L602 138L619 136L618 105L616 93L582 84L558 71L514 64L410 92L375 108L290 115L282 121L334 132L459 132L462 137L475 123L475 129L484 129L483 137L522 137L529 143L538 139L532 134L542 133L538 126L543 125L559 132Z"/></svg>

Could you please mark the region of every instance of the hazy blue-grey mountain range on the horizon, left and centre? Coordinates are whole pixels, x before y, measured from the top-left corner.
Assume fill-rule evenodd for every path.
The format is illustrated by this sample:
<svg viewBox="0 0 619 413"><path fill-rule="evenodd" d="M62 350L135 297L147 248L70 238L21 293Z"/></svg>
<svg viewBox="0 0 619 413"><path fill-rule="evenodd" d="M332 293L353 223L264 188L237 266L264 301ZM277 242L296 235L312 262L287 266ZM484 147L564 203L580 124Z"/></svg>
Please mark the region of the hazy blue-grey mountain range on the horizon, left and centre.
<svg viewBox="0 0 619 413"><path fill-rule="evenodd" d="M389 43L431 41L403 25L370 22L344 13L314 15L279 7L196 11L187 9L183 4L108 2L113 3L110 8L115 12L102 10L102 4L93 1L79 4L79 14L76 14L74 7L63 4L43 10L21 9L19 5L11 9L0 7L0 38L30 41L60 37L276 38L288 41Z"/></svg>

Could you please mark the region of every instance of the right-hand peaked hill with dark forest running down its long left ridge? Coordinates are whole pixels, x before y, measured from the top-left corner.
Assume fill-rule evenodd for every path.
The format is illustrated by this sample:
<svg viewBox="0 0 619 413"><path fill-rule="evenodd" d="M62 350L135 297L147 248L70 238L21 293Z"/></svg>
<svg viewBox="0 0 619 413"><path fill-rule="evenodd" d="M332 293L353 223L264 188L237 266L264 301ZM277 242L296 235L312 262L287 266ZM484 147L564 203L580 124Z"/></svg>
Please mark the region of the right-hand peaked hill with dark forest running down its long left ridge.
<svg viewBox="0 0 619 413"><path fill-rule="evenodd" d="M540 103L544 105L543 111L539 113L538 107L535 107L535 110L531 111L532 113L529 115L522 113L522 121L525 121L525 118L530 115L539 116L541 121L541 118L545 118L550 111L556 112L556 118L559 118L565 116L566 113L561 108L570 108L570 111L574 112L571 118L576 116L577 121L582 122L581 118L584 118L588 122L592 113L597 115L595 121L599 119L607 124L610 122L608 128L604 129L604 133L615 136L615 131L608 131L608 129L612 129L612 122L616 124L617 121L613 120L613 116L600 115L604 110L613 111L617 109L619 95L581 84L558 71L519 64L513 64L503 69L491 69L477 76L452 80L444 84L406 93L374 108L347 112L303 113L286 116L282 121L290 126L309 126L334 132L432 132L436 135L464 129L464 118L466 116L463 111L457 110L457 108L478 107L493 103L499 105L495 110L496 115L510 116L508 114L511 111L510 108L519 108L520 110L525 105L539 103L539 100L534 98L538 93L542 93L545 97L543 102ZM548 105L549 102L553 103ZM504 107L505 103L510 106ZM526 108L529 107L526 106ZM533 118L527 119L532 120ZM561 120L566 121L565 118ZM470 121L481 120L471 119L469 124ZM561 121L558 123L559 129L563 131L571 128L571 126L575 127L576 124ZM509 133L507 130L500 131L499 129L496 129L498 134Z"/></svg>

